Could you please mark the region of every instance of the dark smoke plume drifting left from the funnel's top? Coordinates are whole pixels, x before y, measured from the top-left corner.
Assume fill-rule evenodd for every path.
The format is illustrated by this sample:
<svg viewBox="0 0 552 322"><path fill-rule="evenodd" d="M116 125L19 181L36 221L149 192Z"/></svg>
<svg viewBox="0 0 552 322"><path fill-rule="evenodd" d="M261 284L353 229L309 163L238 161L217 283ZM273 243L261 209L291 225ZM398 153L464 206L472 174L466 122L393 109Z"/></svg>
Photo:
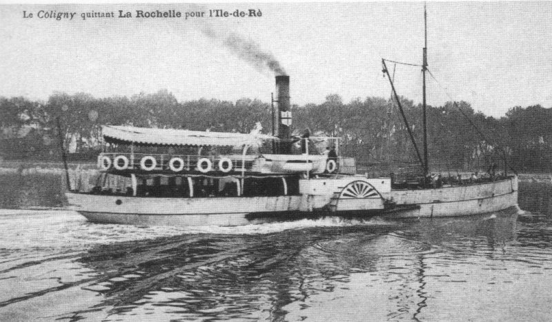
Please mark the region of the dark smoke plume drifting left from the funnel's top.
<svg viewBox="0 0 552 322"><path fill-rule="evenodd" d="M215 29L209 27L205 27L201 31L210 39L222 41L224 47L236 54L239 59L250 63L259 72L264 72L268 69L276 75L286 74L286 71L280 66L276 57L270 52L261 50L259 44L255 43L255 41L243 39L235 33L217 32Z"/></svg>

